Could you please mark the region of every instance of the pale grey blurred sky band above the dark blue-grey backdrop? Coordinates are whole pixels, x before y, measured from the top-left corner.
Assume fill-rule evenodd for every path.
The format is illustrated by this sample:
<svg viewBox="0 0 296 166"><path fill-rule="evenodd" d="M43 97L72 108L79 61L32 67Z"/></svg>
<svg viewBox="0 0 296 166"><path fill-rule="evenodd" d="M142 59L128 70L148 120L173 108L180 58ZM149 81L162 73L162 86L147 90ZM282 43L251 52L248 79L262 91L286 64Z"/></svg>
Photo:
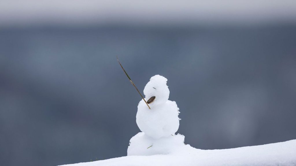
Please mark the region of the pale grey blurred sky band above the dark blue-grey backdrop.
<svg viewBox="0 0 296 166"><path fill-rule="evenodd" d="M294 0L78 1L2 0L0 25L101 24L108 22L258 23L296 18Z"/></svg>

